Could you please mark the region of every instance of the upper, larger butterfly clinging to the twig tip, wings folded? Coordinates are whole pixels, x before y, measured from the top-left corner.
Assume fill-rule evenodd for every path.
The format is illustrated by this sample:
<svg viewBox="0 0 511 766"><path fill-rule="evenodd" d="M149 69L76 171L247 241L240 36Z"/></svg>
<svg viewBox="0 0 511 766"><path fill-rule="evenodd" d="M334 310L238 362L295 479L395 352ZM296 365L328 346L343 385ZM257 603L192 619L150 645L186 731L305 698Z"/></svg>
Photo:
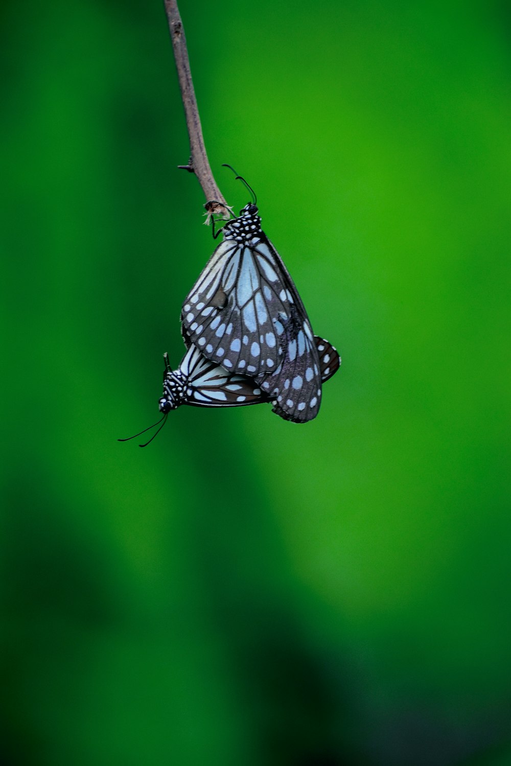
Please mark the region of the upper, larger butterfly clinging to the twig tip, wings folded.
<svg viewBox="0 0 511 766"><path fill-rule="evenodd" d="M321 401L319 352L290 273L254 203L221 231L224 241L185 299L185 331L207 358L254 377L281 417L310 421Z"/></svg>

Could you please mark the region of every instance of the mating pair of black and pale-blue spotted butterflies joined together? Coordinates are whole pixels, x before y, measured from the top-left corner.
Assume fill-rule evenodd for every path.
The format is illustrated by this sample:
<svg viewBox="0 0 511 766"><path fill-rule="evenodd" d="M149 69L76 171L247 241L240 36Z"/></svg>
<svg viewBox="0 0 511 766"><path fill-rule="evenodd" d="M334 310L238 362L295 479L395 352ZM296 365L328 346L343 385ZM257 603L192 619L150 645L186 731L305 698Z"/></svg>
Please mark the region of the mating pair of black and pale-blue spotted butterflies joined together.
<svg viewBox="0 0 511 766"><path fill-rule="evenodd" d="M339 354L314 336L290 273L260 228L256 202L254 195L254 203L221 229L224 240L185 299L188 351L177 370L164 355L163 424L182 404L264 402L284 420L306 423L318 414L323 382L339 369Z"/></svg>

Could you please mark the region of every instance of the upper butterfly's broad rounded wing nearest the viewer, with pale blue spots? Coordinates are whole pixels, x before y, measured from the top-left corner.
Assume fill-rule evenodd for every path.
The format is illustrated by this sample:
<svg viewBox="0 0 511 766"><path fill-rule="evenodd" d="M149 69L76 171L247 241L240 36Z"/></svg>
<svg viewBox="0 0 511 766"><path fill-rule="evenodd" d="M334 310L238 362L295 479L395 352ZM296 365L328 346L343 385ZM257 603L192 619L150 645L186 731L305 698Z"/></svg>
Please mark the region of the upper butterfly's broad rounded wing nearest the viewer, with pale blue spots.
<svg viewBox="0 0 511 766"><path fill-rule="evenodd" d="M260 375L280 365L287 339L279 317L293 315L309 322L277 250L257 231L218 245L185 299L182 323L207 358Z"/></svg>

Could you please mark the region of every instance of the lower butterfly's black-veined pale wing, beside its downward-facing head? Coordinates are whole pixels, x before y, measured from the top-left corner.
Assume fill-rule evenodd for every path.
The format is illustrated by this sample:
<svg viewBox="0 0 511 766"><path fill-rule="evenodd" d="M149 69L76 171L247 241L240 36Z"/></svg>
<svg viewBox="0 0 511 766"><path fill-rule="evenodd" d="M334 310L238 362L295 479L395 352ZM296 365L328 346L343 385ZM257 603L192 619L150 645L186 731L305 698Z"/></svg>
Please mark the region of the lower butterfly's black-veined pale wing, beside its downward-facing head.
<svg viewBox="0 0 511 766"><path fill-rule="evenodd" d="M195 407L243 407L269 401L253 378L227 372L191 345L179 371L185 378L185 404Z"/></svg>

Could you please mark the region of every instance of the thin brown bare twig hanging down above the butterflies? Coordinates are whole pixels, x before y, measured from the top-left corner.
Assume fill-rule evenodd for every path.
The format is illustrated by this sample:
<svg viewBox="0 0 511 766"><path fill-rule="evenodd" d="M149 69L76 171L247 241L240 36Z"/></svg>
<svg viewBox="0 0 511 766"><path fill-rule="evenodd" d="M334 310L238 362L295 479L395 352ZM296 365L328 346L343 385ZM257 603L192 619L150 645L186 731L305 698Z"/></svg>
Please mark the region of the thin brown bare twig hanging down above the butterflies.
<svg viewBox="0 0 511 766"><path fill-rule="evenodd" d="M178 70L179 87L181 88L186 126L190 139L190 159L188 165L179 165L179 167L195 173L197 176L202 191L204 191L206 198L205 208L208 213L218 213L223 215L224 218L229 218L228 204L211 172L204 139L202 138L201 119L198 116L197 99L195 98L190 61L188 60L188 51L186 49L185 29L179 15L176 0L165 0L165 11L169 19L170 38L174 51L175 66Z"/></svg>

